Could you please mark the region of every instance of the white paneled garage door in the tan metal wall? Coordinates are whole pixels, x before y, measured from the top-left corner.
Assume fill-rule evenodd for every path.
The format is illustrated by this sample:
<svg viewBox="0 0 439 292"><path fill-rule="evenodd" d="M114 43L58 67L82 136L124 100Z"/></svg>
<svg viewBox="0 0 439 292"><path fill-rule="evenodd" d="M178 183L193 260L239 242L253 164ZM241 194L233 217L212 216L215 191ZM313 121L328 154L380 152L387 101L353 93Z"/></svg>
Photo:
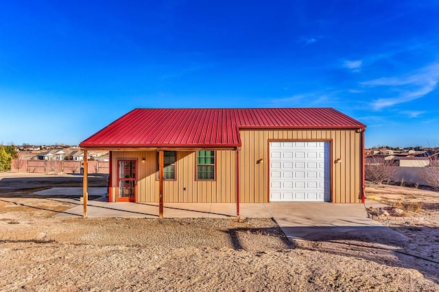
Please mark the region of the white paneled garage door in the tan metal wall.
<svg viewBox="0 0 439 292"><path fill-rule="evenodd" d="M270 142L270 201L329 202L329 142Z"/></svg>

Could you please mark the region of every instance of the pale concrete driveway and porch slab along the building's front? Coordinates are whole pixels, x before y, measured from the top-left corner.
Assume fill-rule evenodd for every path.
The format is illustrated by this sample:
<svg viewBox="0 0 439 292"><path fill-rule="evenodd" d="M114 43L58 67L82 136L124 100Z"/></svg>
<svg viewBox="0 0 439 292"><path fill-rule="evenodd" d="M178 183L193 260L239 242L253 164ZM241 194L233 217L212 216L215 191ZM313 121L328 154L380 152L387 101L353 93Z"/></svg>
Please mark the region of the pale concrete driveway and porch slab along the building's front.
<svg viewBox="0 0 439 292"><path fill-rule="evenodd" d="M108 203L105 188L89 188L88 193L103 197L88 201L88 217L125 217L125 218L158 218L156 203ZM72 195L82 193L82 188L66 190L53 188L40 195L49 196L66 193ZM99 193L101 192L101 193ZM62 212L56 217L82 217L83 205L79 200L71 200L78 204ZM378 204L366 200L366 206ZM383 226L367 216L364 204L331 204L320 202L283 202L267 204L240 204L241 218L273 218L285 235L291 240L314 240L344 238L355 234L381 234L407 239L402 234ZM228 203L165 203L165 218L234 218L236 204Z"/></svg>

